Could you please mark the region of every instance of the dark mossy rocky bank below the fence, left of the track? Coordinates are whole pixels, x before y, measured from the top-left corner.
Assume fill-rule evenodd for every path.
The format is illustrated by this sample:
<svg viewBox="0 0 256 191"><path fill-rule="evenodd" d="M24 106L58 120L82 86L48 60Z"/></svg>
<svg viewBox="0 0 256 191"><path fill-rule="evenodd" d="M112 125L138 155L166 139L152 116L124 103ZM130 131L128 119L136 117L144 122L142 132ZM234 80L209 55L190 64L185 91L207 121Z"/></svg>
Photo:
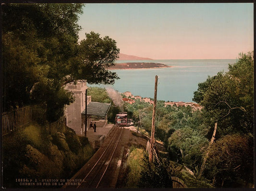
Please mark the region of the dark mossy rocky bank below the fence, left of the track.
<svg viewBox="0 0 256 191"><path fill-rule="evenodd" d="M2 138L3 186L31 188L18 179L68 179L94 154L87 138L68 128L49 135L32 123Z"/></svg>

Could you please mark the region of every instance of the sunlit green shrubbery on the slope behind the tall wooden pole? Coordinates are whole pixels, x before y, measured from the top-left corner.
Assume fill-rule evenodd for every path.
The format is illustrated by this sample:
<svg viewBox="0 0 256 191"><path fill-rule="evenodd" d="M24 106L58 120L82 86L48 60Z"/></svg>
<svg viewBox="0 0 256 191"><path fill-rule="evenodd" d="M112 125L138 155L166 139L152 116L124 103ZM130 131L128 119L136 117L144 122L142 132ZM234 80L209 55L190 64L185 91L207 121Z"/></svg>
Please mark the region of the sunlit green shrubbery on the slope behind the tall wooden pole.
<svg viewBox="0 0 256 191"><path fill-rule="evenodd" d="M149 134L152 124L152 105L136 101L126 104L135 121L141 118L141 125ZM179 161L194 171L201 164L204 149L208 144L210 128L205 124L205 113L193 111L191 107L164 107L158 101L156 110L155 137L164 142L171 160Z"/></svg>

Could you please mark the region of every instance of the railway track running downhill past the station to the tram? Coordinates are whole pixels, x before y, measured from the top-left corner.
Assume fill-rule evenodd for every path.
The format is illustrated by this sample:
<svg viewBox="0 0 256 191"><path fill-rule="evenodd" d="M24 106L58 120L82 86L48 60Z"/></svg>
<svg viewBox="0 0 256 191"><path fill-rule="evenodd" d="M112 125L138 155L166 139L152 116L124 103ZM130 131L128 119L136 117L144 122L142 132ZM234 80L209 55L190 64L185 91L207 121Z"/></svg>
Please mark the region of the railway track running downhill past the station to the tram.
<svg viewBox="0 0 256 191"><path fill-rule="evenodd" d="M120 140L122 139L122 134L124 129L122 127L116 126L112 131L110 139L106 141L104 147L100 148L97 153L97 162L90 162L85 165L79 174L76 174L75 179L80 179L80 183L74 186L65 186L65 188L100 188L105 187L106 182L104 181L106 174L110 171L110 167L115 164L115 155L117 154L117 148L119 146ZM94 160L95 161L95 160ZM108 172L110 173L110 172ZM105 187L106 188L106 187Z"/></svg>

